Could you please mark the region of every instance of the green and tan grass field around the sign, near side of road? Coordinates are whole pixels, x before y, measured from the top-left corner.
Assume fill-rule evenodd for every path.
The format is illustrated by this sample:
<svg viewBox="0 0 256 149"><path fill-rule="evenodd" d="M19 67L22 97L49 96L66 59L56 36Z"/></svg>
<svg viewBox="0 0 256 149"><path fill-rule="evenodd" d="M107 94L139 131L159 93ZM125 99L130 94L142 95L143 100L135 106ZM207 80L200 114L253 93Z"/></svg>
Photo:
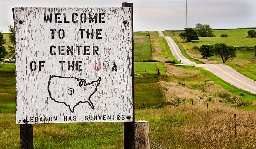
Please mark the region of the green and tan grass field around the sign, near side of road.
<svg viewBox="0 0 256 149"><path fill-rule="evenodd" d="M135 51L148 51L146 33L135 40ZM155 32L150 33L154 36ZM148 37L149 38L149 37ZM155 38L157 39L157 38ZM159 39L159 40L158 40ZM158 38L155 41L161 43ZM141 40L141 42L138 42ZM145 44L147 43L147 44ZM144 46L143 46L144 45ZM164 47L162 44L162 47ZM152 44L151 44L152 46ZM149 45L150 47L150 45ZM184 50L185 51L185 50ZM187 50L186 50L187 51ZM151 52L151 51L150 51ZM137 53L138 54L138 53ZM153 54L153 53L152 53ZM161 57L161 54L155 57ZM168 53L165 56L168 56ZM138 60L144 59L139 55ZM151 54L148 58L151 58ZM19 125L15 124L15 64L0 68L0 146L20 148ZM157 68L161 76L158 77ZM145 72L146 70L146 72ZM135 120L149 121L150 140L166 148L234 148L233 114L237 113L238 148L255 148L256 97L237 89L212 73L193 66L172 66L167 63L135 62ZM172 108L173 102L185 99L183 111ZM171 107L171 108L170 108ZM251 111L248 111L251 110ZM231 118L220 116L219 114ZM123 123L59 123L33 125L35 148L123 148ZM151 146L151 148L153 148Z"/></svg>

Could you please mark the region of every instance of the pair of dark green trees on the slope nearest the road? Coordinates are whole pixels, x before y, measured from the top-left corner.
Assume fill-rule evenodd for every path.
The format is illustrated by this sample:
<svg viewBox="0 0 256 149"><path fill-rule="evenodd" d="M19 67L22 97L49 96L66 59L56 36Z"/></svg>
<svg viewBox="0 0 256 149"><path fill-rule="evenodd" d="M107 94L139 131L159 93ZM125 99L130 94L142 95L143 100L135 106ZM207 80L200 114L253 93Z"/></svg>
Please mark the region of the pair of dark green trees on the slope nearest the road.
<svg viewBox="0 0 256 149"><path fill-rule="evenodd" d="M199 52L206 59L214 55L221 57L223 63L226 63L230 58L236 57L236 48L223 43L214 45L204 44L199 48Z"/></svg>

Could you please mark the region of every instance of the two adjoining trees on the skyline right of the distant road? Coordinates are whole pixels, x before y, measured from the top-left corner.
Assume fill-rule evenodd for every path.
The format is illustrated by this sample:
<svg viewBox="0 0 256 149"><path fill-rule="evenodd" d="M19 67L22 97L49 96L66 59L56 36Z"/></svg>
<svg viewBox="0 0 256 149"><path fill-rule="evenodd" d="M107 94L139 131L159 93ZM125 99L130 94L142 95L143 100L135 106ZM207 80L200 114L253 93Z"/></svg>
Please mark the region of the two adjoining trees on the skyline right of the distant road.
<svg viewBox="0 0 256 149"><path fill-rule="evenodd" d="M184 32L180 33L180 37L183 40L191 42L192 40L199 40L200 37L215 37L212 28L208 24L195 24L195 28L185 28Z"/></svg>

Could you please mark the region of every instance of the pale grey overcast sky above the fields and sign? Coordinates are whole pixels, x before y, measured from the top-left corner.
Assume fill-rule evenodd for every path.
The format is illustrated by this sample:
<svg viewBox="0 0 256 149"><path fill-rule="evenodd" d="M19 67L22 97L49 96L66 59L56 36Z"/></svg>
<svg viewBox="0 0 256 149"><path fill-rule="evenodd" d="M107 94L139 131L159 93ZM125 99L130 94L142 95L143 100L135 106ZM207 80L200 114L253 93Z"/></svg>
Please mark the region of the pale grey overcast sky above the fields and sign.
<svg viewBox="0 0 256 149"><path fill-rule="evenodd" d="M134 8L134 31L182 30L186 0L127 0ZM187 0L188 27L256 27L256 0ZM121 7L120 0L0 0L0 30L13 25L13 7Z"/></svg>

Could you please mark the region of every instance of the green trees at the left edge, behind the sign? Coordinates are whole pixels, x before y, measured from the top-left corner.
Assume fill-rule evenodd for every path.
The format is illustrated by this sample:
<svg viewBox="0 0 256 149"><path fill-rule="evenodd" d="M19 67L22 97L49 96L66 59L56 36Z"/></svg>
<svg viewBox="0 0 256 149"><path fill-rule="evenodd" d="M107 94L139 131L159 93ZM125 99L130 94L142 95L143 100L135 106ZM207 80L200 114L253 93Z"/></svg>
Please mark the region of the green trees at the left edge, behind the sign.
<svg viewBox="0 0 256 149"><path fill-rule="evenodd" d="M12 25L8 26L9 28L9 32L10 34L9 36L9 40L12 43L12 45L8 45L9 51L6 51L6 48L4 46L6 40L4 39L4 35L2 33L2 30L0 30L0 61L3 60L3 58L8 54L11 53L14 54L15 53L15 37L14 37L14 28Z"/></svg>

